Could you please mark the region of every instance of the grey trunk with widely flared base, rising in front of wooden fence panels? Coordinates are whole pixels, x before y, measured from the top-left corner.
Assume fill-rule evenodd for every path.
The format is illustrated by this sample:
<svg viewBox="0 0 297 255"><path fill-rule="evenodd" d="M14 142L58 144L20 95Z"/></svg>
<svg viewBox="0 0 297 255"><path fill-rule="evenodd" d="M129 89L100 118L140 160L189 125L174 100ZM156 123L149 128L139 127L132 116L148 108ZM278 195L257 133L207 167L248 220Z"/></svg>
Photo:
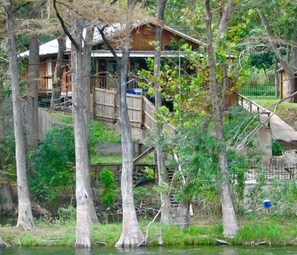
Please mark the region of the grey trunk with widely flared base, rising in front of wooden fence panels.
<svg viewBox="0 0 297 255"><path fill-rule="evenodd" d="M135 0L128 0L126 13L126 29L124 44L122 46L122 59L120 62L120 86L119 94L119 115L122 137L122 173L121 173L121 193L123 204L123 226L120 239L117 241L117 247L137 247L144 242L144 235L139 228L137 221L134 197L133 197L133 146L132 134L127 106L127 75L129 65L129 49L131 45L131 31Z"/></svg>

